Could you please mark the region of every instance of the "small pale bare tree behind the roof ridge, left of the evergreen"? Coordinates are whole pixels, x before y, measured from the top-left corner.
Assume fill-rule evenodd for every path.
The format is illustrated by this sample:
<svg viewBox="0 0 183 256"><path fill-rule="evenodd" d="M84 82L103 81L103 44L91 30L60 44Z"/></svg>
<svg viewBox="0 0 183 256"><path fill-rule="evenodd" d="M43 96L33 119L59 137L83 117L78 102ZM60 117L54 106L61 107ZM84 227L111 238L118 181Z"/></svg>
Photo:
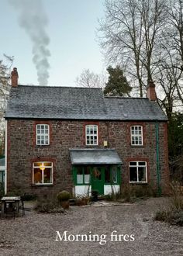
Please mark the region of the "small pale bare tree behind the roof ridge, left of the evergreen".
<svg viewBox="0 0 183 256"><path fill-rule="evenodd" d="M80 76L76 78L76 85L88 88L102 88L105 86L105 76L102 74L95 74L89 69L82 71Z"/></svg>

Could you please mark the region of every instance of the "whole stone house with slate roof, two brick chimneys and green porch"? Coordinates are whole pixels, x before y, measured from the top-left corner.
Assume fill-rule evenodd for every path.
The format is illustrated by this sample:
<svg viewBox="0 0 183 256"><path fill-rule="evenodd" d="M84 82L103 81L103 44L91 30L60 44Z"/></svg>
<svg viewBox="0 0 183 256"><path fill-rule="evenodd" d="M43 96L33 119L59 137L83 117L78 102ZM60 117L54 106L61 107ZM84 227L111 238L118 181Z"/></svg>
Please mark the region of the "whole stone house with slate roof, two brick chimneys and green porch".
<svg viewBox="0 0 183 256"><path fill-rule="evenodd" d="M104 97L101 88L18 85L14 68L5 120L5 192L167 192L167 118L152 82L147 98Z"/></svg>

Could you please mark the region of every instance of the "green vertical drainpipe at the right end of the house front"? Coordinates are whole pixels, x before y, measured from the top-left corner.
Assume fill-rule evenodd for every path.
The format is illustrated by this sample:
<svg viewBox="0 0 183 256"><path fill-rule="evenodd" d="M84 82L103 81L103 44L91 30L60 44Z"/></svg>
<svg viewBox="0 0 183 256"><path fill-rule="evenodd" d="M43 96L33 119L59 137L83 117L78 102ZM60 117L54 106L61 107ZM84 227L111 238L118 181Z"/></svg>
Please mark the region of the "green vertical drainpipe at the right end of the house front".
<svg viewBox="0 0 183 256"><path fill-rule="evenodd" d="M159 154L159 126L156 121L156 153L157 153L157 195L161 196L161 173L160 173L160 154Z"/></svg>

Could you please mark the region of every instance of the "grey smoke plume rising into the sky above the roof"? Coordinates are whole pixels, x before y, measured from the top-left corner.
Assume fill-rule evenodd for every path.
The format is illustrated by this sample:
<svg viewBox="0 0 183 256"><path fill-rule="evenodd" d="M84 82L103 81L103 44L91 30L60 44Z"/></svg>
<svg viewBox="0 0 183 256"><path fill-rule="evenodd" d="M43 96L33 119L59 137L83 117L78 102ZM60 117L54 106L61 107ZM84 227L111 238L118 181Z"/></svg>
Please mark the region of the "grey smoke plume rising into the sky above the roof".
<svg viewBox="0 0 183 256"><path fill-rule="evenodd" d="M37 80L40 85L47 85L50 39L46 32L48 20L42 0L9 0L9 2L19 11L19 25L26 30L33 42L33 63L36 65Z"/></svg>

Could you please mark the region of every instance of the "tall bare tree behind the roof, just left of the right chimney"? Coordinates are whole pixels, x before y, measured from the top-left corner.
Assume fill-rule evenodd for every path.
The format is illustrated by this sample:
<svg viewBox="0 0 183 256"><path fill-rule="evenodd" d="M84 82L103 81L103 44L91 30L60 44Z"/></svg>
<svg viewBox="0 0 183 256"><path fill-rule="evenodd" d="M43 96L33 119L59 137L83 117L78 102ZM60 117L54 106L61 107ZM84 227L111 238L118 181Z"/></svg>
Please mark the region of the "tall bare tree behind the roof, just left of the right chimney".
<svg viewBox="0 0 183 256"><path fill-rule="evenodd" d="M164 0L105 0L100 21L102 48L108 61L119 62L138 81L140 97L160 62L157 43L166 22Z"/></svg>

